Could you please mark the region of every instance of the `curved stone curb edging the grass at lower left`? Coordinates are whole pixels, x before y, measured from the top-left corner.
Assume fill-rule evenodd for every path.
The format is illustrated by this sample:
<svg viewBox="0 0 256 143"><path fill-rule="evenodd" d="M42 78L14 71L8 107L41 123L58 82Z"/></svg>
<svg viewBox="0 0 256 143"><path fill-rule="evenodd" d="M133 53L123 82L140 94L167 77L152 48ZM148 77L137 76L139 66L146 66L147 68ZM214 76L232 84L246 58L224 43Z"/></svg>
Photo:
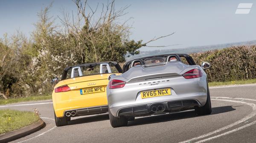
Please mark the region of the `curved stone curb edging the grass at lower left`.
<svg viewBox="0 0 256 143"><path fill-rule="evenodd" d="M7 143L12 140L16 140L20 137L24 137L29 135L45 126L44 121L40 118L39 121L32 123L29 126L25 126L23 128L14 130L12 132L8 132L6 134L0 135L0 143Z"/></svg>

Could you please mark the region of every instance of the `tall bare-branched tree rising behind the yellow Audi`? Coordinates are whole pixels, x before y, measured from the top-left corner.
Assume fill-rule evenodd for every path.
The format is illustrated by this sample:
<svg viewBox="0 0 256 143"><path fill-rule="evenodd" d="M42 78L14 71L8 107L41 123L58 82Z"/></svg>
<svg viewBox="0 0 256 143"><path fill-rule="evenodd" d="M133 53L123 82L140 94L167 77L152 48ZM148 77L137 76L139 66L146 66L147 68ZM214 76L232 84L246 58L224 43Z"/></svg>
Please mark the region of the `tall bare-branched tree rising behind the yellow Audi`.
<svg viewBox="0 0 256 143"><path fill-rule="evenodd" d="M102 4L101 8L99 8L99 3L96 5L96 7L93 9L88 3L87 0L73 0L73 2L76 4L77 7L77 14L74 16L74 13L72 12L72 16L70 17L70 14L67 12L64 12L64 17L60 18L61 22L64 24L66 31L68 31L69 34L73 34L74 37L76 37L77 41L79 41L79 45L76 46L76 50L79 51L80 57L84 59L84 57L89 56L87 53L92 51L94 61L101 61L102 57L105 56L102 54L99 54L99 51L104 51L103 53L109 53L107 49L99 49L99 44L101 42L107 43L107 47L109 50L113 50L113 36L115 34L122 35L122 37L125 37L122 39L124 42L129 41L128 35L130 26L126 25L125 21L123 23L117 22L120 17L127 14L125 10L129 6L124 6L119 9L115 8L115 0L112 0L111 2L108 2L106 4ZM99 11L100 15L96 16L96 12ZM118 23L118 24L117 24ZM116 32L113 32L113 29L117 30ZM101 36L99 36L99 33ZM174 34L174 33L172 33ZM158 39L171 36L172 34L168 34L166 36L160 36L160 37L154 37L153 39L149 40L145 43L136 44L136 42L132 45L136 45L137 47L130 49L127 49L129 53L137 54L139 52L136 52L137 49L140 47L146 46L146 47L167 47L172 45L157 45L157 46L150 46L149 43L156 41ZM87 43L87 48L83 48L84 45ZM131 43L130 43L131 44ZM118 50L120 51L120 50ZM118 52L117 51L117 52ZM85 56L84 56L85 55ZM82 60L83 61L83 60Z"/></svg>

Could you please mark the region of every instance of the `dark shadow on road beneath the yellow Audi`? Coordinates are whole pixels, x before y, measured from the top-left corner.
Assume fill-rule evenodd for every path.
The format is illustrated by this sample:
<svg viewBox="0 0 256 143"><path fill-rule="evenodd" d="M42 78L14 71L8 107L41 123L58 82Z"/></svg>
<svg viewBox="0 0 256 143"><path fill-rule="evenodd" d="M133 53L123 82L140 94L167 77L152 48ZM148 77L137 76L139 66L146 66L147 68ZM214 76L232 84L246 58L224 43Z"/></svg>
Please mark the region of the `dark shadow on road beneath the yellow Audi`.
<svg viewBox="0 0 256 143"><path fill-rule="evenodd" d="M83 118L73 119L68 122L68 125L80 124L80 123L90 123L96 121L109 120L108 114L99 114L93 116L84 116Z"/></svg>

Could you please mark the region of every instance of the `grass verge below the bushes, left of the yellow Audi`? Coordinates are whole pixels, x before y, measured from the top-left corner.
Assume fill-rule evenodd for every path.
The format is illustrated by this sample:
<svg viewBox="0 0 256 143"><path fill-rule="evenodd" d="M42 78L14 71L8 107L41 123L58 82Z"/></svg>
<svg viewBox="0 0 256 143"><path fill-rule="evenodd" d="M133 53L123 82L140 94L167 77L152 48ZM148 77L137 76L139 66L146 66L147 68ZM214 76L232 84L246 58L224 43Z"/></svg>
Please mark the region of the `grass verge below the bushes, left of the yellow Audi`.
<svg viewBox="0 0 256 143"><path fill-rule="evenodd" d="M52 95L38 95L38 96L29 96L29 97L23 97L23 98L0 99L0 105L12 104L17 102L25 102L25 101L49 100L49 99L52 99Z"/></svg>

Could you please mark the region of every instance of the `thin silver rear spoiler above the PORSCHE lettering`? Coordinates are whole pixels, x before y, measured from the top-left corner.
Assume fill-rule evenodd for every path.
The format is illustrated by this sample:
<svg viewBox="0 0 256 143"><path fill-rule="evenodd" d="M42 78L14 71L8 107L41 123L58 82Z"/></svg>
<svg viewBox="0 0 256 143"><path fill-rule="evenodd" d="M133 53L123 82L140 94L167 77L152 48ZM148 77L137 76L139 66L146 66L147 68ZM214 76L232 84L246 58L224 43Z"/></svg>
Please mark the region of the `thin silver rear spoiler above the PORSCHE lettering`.
<svg viewBox="0 0 256 143"><path fill-rule="evenodd" d="M151 74L151 75L146 75L146 76L138 76L134 77L127 82L132 82L132 81L139 81L139 80L147 80L147 79L156 79L156 78L162 78L166 76L181 76L177 73L159 73L159 74Z"/></svg>

